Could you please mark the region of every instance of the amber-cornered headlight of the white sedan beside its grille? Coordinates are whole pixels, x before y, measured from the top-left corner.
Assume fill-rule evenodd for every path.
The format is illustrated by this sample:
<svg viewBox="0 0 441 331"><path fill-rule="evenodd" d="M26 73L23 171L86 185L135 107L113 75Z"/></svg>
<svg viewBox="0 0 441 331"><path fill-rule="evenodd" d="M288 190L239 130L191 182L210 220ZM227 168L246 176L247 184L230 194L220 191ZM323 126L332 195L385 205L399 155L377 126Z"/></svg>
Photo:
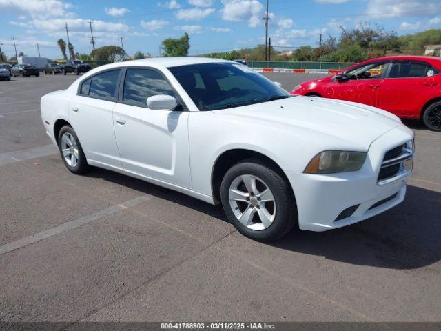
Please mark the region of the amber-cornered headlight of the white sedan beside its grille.
<svg viewBox="0 0 441 331"><path fill-rule="evenodd" d="M325 150L309 161L305 174L335 174L337 172L358 171L365 163L367 153Z"/></svg>

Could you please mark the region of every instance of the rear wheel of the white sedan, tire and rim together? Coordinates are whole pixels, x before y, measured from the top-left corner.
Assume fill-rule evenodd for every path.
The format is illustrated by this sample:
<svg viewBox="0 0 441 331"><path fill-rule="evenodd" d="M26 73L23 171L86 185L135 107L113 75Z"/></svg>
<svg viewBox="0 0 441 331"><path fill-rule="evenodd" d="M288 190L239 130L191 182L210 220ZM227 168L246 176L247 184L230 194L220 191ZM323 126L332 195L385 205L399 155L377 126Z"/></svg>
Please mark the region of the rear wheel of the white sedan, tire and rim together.
<svg viewBox="0 0 441 331"><path fill-rule="evenodd" d="M63 126L58 135L58 146L61 159L70 172L82 174L88 170L88 161L85 158L80 141L74 129Z"/></svg>

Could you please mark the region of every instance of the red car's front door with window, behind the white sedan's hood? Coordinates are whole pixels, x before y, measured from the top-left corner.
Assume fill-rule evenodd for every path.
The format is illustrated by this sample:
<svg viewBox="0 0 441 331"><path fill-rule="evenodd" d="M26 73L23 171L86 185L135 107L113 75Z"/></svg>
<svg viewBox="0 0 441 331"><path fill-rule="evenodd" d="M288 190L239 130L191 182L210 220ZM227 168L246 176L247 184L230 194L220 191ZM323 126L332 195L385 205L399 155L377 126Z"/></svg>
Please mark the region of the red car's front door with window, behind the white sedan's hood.
<svg viewBox="0 0 441 331"><path fill-rule="evenodd" d="M349 79L334 80L325 90L325 97L376 106L387 63L371 62L346 72Z"/></svg>

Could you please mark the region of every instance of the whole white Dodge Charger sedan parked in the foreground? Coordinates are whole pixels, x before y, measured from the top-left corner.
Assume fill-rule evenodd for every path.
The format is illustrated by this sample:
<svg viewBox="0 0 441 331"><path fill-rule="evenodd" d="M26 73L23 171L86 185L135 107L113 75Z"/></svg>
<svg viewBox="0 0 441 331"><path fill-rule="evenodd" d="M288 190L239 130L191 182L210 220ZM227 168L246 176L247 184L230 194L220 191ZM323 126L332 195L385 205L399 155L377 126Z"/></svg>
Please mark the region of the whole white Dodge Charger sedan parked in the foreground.
<svg viewBox="0 0 441 331"><path fill-rule="evenodd" d="M291 96L233 61L112 63L41 99L65 166L222 203L247 237L324 231L402 202L413 132L378 108Z"/></svg>

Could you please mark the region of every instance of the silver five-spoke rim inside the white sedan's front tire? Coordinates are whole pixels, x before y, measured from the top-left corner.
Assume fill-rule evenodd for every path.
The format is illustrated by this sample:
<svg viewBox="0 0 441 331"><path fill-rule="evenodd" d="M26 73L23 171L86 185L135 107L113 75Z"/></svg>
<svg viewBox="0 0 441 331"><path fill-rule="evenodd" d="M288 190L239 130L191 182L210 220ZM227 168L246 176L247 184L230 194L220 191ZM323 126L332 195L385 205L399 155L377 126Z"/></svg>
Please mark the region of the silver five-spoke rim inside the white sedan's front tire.
<svg viewBox="0 0 441 331"><path fill-rule="evenodd" d="M240 223L265 230L276 217L276 200L268 185L252 174L236 177L229 186L229 205Z"/></svg>

